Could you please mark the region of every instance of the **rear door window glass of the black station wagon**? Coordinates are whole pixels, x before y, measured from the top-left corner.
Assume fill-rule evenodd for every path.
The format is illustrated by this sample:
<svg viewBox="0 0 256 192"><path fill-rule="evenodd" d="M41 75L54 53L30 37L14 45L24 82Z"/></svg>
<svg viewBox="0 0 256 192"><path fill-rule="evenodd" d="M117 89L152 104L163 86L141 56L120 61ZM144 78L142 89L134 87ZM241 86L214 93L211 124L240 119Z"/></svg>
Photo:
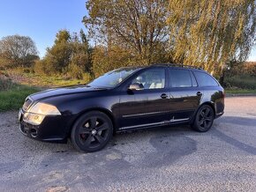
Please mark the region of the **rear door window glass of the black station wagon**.
<svg viewBox="0 0 256 192"><path fill-rule="evenodd" d="M192 79L189 70L169 70L171 87L191 87Z"/></svg>

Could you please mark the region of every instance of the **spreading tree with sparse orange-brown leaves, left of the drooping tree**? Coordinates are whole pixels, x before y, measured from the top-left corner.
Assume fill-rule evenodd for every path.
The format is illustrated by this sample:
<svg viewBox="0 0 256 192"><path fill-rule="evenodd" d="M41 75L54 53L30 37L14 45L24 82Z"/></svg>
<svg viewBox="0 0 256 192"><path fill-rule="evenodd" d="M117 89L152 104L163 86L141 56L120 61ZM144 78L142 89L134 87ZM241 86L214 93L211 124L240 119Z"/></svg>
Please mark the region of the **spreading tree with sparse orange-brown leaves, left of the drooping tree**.
<svg viewBox="0 0 256 192"><path fill-rule="evenodd" d="M168 51L168 1L89 0L87 10L83 22L102 46L127 50L139 64L164 60L158 55Z"/></svg>

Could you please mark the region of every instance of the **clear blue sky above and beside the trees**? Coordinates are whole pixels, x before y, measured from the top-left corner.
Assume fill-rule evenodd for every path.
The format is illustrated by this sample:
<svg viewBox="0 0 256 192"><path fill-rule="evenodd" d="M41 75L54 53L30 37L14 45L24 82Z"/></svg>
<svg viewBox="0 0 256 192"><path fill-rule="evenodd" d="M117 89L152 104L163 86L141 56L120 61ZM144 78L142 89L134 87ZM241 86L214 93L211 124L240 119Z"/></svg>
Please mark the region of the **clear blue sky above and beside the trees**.
<svg viewBox="0 0 256 192"><path fill-rule="evenodd" d="M30 36L42 57L61 29L79 32L87 15L86 0L0 0L0 39L7 35ZM256 62L256 47L248 61Z"/></svg>

